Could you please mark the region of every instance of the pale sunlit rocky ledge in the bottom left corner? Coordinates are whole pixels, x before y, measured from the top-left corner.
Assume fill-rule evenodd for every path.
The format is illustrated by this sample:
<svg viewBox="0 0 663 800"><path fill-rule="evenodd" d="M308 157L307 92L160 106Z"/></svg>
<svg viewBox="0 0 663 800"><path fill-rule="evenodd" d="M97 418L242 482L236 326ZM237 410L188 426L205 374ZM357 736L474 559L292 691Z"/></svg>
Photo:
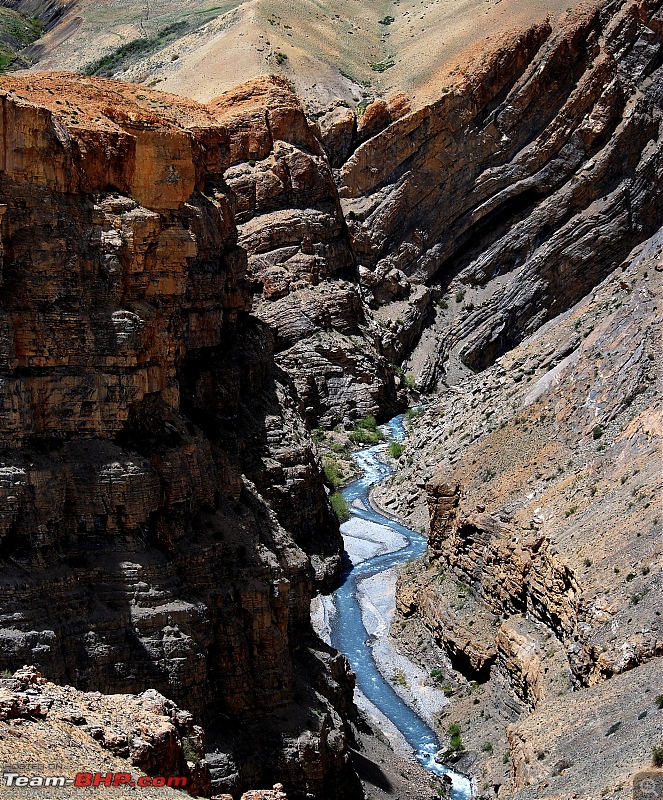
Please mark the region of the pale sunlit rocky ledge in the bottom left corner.
<svg viewBox="0 0 663 800"><path fill-rule="evenodd" d="M86 772L120 773L134 781L156 776L170 778L171 783L152 787L145 781L138 797L182 797L171 787L209 797L204 753L204 734L191 714L154 689L139 695L80 692L47 681L34 667L0 679L0 755L5 772L16 765L19 774L42 778L74 779ZM108 791L103 786L86 787L93 796L104 790ZM57 789L59 797L75 797L80 791L74 786ZM25 790L5 785L3 796L24 797Z"/></svg>

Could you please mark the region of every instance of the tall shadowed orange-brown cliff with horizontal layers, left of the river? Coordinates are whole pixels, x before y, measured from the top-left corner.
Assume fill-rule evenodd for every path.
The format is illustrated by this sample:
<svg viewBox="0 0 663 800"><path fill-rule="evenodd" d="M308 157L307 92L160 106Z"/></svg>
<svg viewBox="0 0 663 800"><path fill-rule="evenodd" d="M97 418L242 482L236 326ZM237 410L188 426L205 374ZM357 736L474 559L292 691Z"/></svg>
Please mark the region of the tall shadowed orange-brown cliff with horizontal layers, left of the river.
<svg viewBox="0 0 663 800"><path fill-rule="evenodd" d="M341 540L247 313L241 128L66 74L1 94L3 666L156 688L225 746L221 788L352 795L352 682L308 611Z"/></svg>

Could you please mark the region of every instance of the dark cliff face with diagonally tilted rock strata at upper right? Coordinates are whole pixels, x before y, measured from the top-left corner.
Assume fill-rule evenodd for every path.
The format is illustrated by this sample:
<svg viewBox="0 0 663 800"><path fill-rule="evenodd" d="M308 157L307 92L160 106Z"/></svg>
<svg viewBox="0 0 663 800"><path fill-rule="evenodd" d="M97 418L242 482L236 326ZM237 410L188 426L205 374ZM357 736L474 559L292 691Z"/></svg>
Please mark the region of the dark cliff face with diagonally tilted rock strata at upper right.
<svg viewBox="0 0 663 800"><path fill-rule="evenodd" d="M449 358L485 368L658 229L661 58L658 2L569 13L459 65L343 165L362 285L426 283L448 307L421 386Z"/></svg>

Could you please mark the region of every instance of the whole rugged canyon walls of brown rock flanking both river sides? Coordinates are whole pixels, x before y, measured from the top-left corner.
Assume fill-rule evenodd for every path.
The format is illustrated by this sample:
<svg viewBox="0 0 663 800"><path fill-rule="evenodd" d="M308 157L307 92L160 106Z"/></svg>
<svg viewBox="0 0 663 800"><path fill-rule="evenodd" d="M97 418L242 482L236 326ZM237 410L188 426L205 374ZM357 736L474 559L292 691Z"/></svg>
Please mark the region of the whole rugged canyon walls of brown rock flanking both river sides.
<svg viewBox="0 0 663 800"><path fill-rule="evenodd" d="M392 631L446 758L476 796L622 796L663 713L661 3L512 20L366 102L41 71L82 66L48 46L86 4L47 5L0 78L2 691L133 698L168 742L134 763L204 796L370 793L310 622L323 462L423 400L373 500L428 536ZM114 726L90 758L133 757Z"/></svg>

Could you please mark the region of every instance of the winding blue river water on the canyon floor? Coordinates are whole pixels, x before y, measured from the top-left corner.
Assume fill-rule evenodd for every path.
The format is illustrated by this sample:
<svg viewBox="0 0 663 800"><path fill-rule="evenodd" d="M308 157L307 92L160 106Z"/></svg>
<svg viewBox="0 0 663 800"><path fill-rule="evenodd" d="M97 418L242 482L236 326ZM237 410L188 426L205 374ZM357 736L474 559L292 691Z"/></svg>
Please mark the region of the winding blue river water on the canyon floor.
<svg viewBox="0 0 663 800"><path fill-rule="evenodd" d="M398 441L405 438L402 416L395 417L382 428L390 438ZM368 633L357 600L357 584L411 558L418 558L426 549L424 536L377 513L368 502L371 486L380 483L391 473L391 467L381 458L383 450L384 445L374 445L354 454L354 459L364 474L349 484L343 490L343 495L348 501L352 516L391 528L405 537L407 545L400 550L370 558L356 566L348 565L342 576L341 585L334 593L336 614L331 626L331 642L334 647L345 653L350 661L357 675L358 688L403 734L414 750L417 760L436 775L449 775L453 784L452 798L466 800L472 797L469 780L434 760L435 753L441 747L435 731L396 694L378 670L372 651L365 644ZM362 501L364 508L353 506L355 500Z"/></svg>

